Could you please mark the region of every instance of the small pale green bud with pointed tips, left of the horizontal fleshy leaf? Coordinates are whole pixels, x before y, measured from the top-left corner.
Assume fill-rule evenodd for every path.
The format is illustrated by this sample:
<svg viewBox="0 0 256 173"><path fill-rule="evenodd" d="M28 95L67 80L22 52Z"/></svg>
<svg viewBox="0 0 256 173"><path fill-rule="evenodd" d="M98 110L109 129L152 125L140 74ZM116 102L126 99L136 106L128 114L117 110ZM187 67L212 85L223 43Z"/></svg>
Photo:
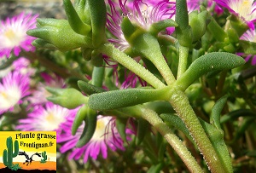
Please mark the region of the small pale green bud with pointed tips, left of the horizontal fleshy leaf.
<svg viewBox="0 0 256 173"><path fill-rule="evenodd" d="M77 89L54 89L46 88L53 96L47 99L61 107L73 109L88 102L88 97L82 95Z"/></svg>

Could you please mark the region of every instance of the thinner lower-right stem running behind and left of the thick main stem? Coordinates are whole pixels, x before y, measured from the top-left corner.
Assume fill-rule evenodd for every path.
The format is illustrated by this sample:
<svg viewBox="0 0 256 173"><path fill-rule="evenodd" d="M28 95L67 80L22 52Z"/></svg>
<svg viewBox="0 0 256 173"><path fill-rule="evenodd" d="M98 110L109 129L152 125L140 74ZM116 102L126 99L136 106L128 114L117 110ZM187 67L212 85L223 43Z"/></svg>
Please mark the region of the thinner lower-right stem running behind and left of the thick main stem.
<svg viewBox="0 0 256 173"><path fill-rule="evenodd" d="M177 152L179 157L183 159L184 164L191 172L203 172L201 167L195 161L188 148L183 145L183 142L172 133L172 130L163 122L159 115L153 110L141 107L142 118L146 119L148 123L152 124L156 130L168 141L172 148Z"/></svg>

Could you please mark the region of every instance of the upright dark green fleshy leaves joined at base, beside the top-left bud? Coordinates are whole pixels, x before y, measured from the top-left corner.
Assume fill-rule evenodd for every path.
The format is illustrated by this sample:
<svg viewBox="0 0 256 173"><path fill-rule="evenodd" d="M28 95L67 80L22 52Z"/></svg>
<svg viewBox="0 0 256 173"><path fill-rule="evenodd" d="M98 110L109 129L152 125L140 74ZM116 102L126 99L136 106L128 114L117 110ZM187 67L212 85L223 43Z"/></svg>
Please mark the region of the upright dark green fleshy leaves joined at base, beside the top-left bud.
<svg viewBox="0 0 256 173"><path fill-rule="evenodd" d="M67 20L73 31L91 37L94 47L106 41L107 9L104 0L77 0L74 7L70 0L63 2Z"/></svg>

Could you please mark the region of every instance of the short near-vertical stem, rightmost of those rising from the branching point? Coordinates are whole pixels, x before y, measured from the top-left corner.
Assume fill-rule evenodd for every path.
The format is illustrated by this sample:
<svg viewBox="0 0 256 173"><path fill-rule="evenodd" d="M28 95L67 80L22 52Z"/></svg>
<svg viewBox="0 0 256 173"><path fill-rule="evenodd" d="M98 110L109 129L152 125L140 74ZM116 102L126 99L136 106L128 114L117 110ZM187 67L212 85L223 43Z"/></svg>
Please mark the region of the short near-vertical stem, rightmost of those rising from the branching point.
<svg viewBox="0 0 256 173"><path fill-rule="evenodd" d="M177 67L177 78L181 77L187 70L189 48L180 45L178 48L178 53L179 59Z"/></svg>

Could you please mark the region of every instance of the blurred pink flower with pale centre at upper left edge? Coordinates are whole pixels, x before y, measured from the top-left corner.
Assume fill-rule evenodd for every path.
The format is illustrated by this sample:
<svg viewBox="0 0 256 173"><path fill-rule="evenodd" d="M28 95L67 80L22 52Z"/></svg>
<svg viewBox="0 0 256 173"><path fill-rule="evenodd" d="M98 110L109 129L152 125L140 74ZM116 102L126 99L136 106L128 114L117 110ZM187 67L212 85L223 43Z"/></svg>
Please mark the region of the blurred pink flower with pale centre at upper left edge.
<svg viewBox="0 0 256 173"><path fill-rule="evenodd" d="M15 56L20 54L21 49L34 50L32 41L34 37L26 35L26 32L36 27L38 14L21 13L13 18L8 18L0 25L0 57L6 55L9 58L13 52Z"/></svg>

